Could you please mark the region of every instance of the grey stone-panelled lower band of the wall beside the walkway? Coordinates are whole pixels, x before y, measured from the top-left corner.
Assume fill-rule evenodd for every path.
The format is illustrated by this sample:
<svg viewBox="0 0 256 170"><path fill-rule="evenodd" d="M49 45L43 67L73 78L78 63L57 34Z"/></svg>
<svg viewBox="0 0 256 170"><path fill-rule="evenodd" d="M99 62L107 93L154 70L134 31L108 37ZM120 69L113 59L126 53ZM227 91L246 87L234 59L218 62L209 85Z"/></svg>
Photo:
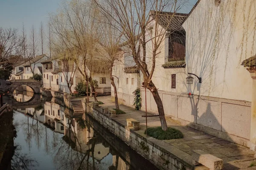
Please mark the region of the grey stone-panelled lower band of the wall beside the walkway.
<svg viewBox="0 0 256 170"><path fill-rule="evenodd" d="M166 117L175 119L182 125L249 147L251 102L158 92ZM141 95L141 110L145 111L144 88L141 89ZM158 114L153 96L149 91L146 95L147 111Z"/></svg>

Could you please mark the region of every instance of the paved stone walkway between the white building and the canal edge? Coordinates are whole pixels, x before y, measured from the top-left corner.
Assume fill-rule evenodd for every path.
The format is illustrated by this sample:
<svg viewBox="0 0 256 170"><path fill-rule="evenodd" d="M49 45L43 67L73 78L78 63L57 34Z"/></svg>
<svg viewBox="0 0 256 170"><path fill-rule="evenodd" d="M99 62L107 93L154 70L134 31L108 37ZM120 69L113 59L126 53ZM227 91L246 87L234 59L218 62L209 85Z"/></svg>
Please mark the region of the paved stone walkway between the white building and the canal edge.
<svg viewBox="0 0 256 170"><path fill-rule="evenodd" d="M91 98L90 100L92 101L93 99ZM111 101L111 96L100 96L98 97L98 100L103 102L103 105L108 106L108 108L115 108L114 102ZM133 108L125 105L119 105L119 108L122 111L125 111L126 114L117 115L117 117L113 119L122 125L126 125L127 118L133 118L140 121L140 130L135 132L139 133L143 137L146 137L144 134L146 128L145 117L142 117L142 115L145 115L145 112L136 111ZM256 158L254 158L255 153L247 147L243 147L239 144L235 144L224 139L216 138L190 127L180 126L172 121L167 121L167 125L180 130L183 133L184 138L157 140L152 137L147 137L147 139L171 153L175 151L176 156L189 163L192 163L191 155L193 150L204 150L205 152L222 159L224 161L224 170L256 170L256 166L250 167L250 165L256 161ZM148 117L148 127L157 126L160 126L159 117ZM205 170L205 167L198 166L198 170Z"/></svg>

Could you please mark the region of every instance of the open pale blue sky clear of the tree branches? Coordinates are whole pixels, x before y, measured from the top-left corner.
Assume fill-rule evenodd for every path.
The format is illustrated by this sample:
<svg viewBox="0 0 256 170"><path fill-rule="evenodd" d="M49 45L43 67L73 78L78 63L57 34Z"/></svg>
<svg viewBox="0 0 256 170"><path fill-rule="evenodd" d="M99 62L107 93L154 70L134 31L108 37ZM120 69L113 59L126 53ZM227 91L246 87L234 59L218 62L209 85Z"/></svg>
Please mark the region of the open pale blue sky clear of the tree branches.
<svg viewBox="0 0 256 170"><path fill-rule="evenodd" d="M179 11L189 13L197 0L189 0L189 4ZM41 21L48 22L49 12L55 12L61 0L0 0L0 27L22 29L27 33L32 25L39 30Z"/></svg>

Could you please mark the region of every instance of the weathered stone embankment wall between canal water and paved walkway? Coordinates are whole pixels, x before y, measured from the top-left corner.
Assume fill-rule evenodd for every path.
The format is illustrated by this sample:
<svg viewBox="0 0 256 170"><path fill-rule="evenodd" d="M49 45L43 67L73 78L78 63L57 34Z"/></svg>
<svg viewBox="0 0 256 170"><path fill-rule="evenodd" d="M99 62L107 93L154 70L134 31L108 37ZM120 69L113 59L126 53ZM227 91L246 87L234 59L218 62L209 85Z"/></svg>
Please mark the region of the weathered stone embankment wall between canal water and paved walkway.
<svg viewBox="0 0 256 170"><path fill-rule="evenodd" d="M88 108L88 113L102 126L107 128L111 133L122 139L137 153L148 159L159 169L164 170L192 170L194 168L192 162L177 157L174 153L178 154L177 148L169 148L171 151L163 149L159 145L152 142L154 139L146 139L143 136L130 130L129 127L116 122L100 111L100 108Z"/></svg>

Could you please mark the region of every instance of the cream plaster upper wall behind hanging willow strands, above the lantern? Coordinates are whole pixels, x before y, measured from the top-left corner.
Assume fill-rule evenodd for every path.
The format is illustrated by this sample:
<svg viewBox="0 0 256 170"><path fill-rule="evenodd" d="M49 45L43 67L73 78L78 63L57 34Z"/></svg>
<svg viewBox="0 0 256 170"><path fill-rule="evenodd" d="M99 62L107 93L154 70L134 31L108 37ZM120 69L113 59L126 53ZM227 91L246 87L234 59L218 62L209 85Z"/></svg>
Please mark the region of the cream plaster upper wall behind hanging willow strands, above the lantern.
<svg viewBox="0 0 256 170"><path fill-rule="evenodd" d="M252 80L241 62L256 52L255 10L254 0L221 1L218 7L213 0L198 3L183 27L186 70L202 77L202 83L196 80L187 92L251 101Z"/></svg>

